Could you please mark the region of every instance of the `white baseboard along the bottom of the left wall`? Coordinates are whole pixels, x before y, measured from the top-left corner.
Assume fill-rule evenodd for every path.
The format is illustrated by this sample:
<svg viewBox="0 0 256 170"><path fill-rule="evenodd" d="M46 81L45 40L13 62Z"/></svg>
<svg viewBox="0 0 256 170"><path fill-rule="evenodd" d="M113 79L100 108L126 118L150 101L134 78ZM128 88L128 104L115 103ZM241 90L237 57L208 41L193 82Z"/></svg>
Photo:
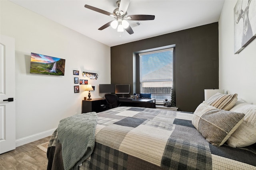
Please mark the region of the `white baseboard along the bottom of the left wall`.
<svg viewBox="0 0 256 170"><path fill-rule="evenodd" d="M44 131L44 132L41 132L41 133L36 133L34 135L30 135L28 137L23 137L23 138L20 138L20 139L17 139L15 141L16 143L16 147L19 147L21 145L25 145L27 143L30 143L30 142L34 142L34 141L37 141L39 139L42 139L42 138L45 138L45 137L48 137L48 136L51 136L52 133L56 130L57 128L55 129L50 129L48 131Z"/></svg>

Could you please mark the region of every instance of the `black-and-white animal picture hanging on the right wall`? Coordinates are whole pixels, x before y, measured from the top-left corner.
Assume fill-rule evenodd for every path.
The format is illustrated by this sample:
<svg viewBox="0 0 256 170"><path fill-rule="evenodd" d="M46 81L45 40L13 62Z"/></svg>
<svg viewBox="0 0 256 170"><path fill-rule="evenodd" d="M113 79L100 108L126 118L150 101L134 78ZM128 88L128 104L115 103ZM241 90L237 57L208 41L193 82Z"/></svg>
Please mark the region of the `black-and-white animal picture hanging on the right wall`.
<svg viewBox="0 0 256 170"><path fill-rule="evenodd" d="M234 7L234 53L256 38L256 0L238 0Z"/></svg>

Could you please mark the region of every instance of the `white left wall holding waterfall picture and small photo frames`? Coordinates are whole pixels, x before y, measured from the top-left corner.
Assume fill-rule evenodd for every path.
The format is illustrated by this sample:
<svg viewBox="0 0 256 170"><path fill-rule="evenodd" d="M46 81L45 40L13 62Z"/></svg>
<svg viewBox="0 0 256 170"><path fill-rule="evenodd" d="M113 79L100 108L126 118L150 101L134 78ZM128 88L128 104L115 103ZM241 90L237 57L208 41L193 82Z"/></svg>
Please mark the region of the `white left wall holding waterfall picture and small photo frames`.
<svg viewBox="0 0 256 170"><path fill-rule="evenodd" d="M61 119L81 113L82 100L88 97L88 92L80 85L80 93L74 93L77 84L74 84L73 70L80 71L79 79L87 79L95 86L91 98L100 97L98 84L111 81L110 47L6 0L0 1L0 11L0 33L15 38L13 78L16 80L16 146L19 146L44 132L52 133ZM65 75L30 74L31 52L66 59ZM99 77L83 78L83 71L98 73Z"/></svg>

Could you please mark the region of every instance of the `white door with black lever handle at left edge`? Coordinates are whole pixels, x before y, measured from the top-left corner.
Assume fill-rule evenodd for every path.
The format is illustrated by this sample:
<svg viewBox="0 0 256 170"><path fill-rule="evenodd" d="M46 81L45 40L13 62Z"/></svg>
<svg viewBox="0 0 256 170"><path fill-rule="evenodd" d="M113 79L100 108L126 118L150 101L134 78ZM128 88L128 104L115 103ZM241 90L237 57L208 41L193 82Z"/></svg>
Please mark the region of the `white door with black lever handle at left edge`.
<svg viewBox="0 0 256 170"><path fill-rule="evenodd" d="M15 41L0 35L0 154L16 147L15 114Z"/></svg>

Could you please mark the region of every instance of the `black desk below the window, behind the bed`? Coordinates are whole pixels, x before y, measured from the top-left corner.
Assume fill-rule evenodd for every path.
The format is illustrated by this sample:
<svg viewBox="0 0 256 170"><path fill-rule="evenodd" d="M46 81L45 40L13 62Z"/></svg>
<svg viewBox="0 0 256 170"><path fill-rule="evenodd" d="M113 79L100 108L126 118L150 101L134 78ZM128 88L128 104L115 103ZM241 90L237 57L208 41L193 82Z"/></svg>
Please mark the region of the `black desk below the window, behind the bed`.
<svg viewBox="0 0 256 170"><path fill-rule="evenodd" d="M156 99L135 98L131 100L128 98L118 98L118 103L120 106L156 108Z"/></svg>

